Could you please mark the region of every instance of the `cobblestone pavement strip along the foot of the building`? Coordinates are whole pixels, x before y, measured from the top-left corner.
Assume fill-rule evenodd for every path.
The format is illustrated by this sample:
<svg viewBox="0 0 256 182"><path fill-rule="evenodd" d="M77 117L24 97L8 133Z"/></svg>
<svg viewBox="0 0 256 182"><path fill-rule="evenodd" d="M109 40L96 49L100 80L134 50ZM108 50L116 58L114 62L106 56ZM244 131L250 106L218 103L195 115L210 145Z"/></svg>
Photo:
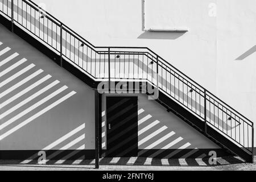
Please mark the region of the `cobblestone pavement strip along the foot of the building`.
<svg viewBox="0 0 256 182"><path fill-rule="evenodd" d="M152 159L152 158L103 158L100 169L94 169L94 160L50 160L46 164L38 164L35 160L0 160L0 170L47 170L47 171L212 171L239 170L256 171L254 164L245 163L237 157L217 158L216 165L210 165L208 159Z"/></svg>

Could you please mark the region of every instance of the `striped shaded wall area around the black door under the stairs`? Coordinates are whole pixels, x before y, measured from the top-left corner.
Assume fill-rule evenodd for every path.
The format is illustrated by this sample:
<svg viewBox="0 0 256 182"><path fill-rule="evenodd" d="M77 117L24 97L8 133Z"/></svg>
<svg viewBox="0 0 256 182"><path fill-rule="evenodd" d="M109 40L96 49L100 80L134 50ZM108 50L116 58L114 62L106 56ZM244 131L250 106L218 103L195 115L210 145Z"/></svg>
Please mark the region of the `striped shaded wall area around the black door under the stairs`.
<svg viewBox="0 0 256 182"><path fill-rule="evenodd" d="M146 94L132 94L138 96L138 131L148 128L146 132L138 136L139 149L177 149L184 146L184 149L194 148L220 148L203 134L199 133L182 119L173 113L168 113L166 108L154 100L148 100ZM102 148L106 149L106 96L113 94L103 94L102 96ZM121 94L120 96L129 96ZM142 124L141 121L144 121ZM152 125L153 123L153 125ZM154 125L156 123L156 125ZM152 127L150 127L152 126ZM158 133L161 128L166 128ZM174 132L174 135L168 136ZM140 133L140 132L139 132ZM148 135L155 133L154 137L146 140ZM142 142L142 141L146 142ZM157 142L157 143L155 143ZM171 144L172 143L172 144ZM154 144L154 146L152 145ZM170 145L168 148L165 146Z"/></svg>

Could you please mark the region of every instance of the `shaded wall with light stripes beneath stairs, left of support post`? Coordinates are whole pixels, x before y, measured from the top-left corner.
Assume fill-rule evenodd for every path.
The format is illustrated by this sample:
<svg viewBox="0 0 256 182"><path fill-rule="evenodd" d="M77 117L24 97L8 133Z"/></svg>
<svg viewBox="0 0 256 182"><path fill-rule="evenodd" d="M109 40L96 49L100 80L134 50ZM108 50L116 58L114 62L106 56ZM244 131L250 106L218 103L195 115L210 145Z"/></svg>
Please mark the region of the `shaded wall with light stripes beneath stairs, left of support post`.
<svg viewBox="0 0 256 182"><path fill-rule="evenodd" d="M0 150L94 149L94 91L2 25L0 42L19 54L0 67Z"/></svg>

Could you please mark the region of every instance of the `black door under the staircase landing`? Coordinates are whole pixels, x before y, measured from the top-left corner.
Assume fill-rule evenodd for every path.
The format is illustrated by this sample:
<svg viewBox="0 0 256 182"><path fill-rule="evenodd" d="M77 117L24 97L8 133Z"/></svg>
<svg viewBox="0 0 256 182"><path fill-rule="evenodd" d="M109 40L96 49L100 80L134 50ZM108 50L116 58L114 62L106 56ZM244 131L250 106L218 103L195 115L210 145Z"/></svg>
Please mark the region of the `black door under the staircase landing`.
<svg viewBox="0 0 256 182"><path fill-rule="evenodd" d="M138 97L106 97L107 157L138 155Z"/></svg>

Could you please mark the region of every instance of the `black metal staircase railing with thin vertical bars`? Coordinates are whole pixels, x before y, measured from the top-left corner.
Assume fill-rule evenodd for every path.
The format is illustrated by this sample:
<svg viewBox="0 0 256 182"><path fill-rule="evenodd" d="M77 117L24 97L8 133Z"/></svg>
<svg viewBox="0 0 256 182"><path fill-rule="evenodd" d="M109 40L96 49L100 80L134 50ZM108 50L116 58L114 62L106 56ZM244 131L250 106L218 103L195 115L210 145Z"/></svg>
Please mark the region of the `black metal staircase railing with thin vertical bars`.
<svg viewBox="0 0 256 182"><path fill-rule="evenodd" d="M253 155L254 124L147 47L96 47L29 0L0 0L0 13L94 80L147 81L207 127ZM155 75L158 75L155 77Z"/></svg>

